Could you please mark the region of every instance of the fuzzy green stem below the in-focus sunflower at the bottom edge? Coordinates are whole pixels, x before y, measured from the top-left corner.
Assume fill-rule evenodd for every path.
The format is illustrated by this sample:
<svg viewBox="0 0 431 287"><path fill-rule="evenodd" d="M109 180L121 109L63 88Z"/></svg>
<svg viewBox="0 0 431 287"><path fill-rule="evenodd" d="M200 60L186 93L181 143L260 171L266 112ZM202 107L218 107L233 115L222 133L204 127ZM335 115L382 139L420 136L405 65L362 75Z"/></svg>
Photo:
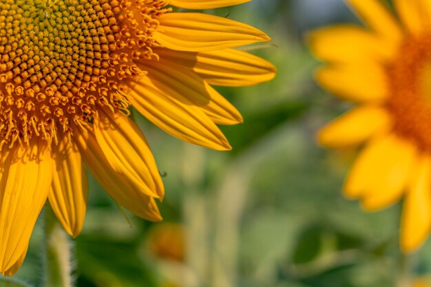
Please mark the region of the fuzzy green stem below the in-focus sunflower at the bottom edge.
<svg viewBox="0 0 431 287"><path fill-rule="evenodd" d="M45 287L72 287L70 240L51 206L45 206Z"/></svg>

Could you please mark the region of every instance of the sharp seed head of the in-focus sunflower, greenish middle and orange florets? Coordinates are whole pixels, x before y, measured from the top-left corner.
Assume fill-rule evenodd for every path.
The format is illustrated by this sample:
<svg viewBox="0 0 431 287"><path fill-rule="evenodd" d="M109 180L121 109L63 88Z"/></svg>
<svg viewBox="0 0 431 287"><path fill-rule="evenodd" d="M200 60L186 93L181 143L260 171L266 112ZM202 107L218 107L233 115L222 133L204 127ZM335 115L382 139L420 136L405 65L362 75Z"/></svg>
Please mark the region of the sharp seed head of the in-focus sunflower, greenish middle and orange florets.
<svg viewBox="0 0 431 287"><path fill-rule="evenodd" d="M0 149L50 143L91 127L99 109L127 112L120 80L156 57L162 0L1 0Z"/></svg>

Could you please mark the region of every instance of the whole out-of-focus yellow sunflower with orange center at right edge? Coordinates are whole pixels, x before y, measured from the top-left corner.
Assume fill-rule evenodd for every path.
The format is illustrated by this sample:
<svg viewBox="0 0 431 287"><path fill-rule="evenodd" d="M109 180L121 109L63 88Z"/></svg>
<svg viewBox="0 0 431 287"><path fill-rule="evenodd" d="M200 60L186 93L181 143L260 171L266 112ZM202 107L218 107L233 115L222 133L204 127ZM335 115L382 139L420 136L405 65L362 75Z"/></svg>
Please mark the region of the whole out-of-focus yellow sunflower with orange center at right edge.
<svg viewBox="0 0 431 287"><path fill-rule="evenodd" d="M401 248L414 251L431 228L431 1L394 0L399 18L379 0L348 3L369 29L322 28L311 47L329 64L317 81L358 107L324 127L319 142L366 141L344 193L370 211L403 198Z"/></svg>

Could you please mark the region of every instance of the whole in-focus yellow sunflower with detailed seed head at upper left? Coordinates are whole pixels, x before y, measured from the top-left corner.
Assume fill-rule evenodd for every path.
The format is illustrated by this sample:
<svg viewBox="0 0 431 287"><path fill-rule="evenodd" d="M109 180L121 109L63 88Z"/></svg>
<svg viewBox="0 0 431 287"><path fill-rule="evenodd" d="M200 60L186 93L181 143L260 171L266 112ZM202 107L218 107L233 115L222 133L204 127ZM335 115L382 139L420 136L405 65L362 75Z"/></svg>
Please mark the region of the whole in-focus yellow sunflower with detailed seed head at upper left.
<svg viewBox="0 0 431 287"><path fill-rule="evenodd" d="M167 133L230 149L216 124L242 122L211 87L255 85L270 63L233 47L269 41L212 9L249 0L0 1L0 272L21 266L49 199L65 231L83 226L83 163L121 206L161 220L164 194L133 106Z"/></svg>

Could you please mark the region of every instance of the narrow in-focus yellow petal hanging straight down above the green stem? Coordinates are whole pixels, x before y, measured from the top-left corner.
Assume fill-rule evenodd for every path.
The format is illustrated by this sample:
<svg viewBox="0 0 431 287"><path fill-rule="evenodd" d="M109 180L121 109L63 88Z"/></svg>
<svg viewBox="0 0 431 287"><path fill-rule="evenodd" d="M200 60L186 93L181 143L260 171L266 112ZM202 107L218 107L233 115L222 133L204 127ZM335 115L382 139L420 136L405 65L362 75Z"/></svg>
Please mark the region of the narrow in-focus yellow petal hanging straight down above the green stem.
<svg viewBox="0 0 431 287"><path fill-rule="evenodd" d="M55 169L48 198L65 231L76 237L83 227L87 209L87 175L78 148L67 136L55 149Z"/></svg>

